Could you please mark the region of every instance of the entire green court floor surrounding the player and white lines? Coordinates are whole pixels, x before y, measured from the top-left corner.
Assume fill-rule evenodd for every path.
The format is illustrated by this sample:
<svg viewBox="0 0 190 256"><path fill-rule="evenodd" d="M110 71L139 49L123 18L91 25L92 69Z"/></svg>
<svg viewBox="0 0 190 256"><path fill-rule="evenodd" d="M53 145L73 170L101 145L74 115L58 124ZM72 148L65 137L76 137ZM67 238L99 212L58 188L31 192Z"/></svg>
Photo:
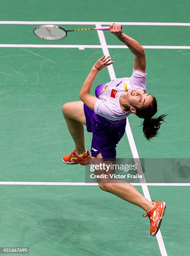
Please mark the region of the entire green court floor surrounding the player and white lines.
<svg viewBox="0 0 190 256"><path fill-rule="evenodd" d="M153 0L0 2L1 20L86 22L189 22L188 1L164 5ZM67 29L92 25L64 25ZM94 27L93 25L92 27ZM100 45L95 31L72 33L49 43L33 36L35 25L1 24L2 44ZM189 46L189 26L123 26L144 46ZM106 44L120 46L109 31ZM167 116L160 135L146 141L139 118L129 116L140 158L190 158L190 49L145 49L147 92L157 97L159 115ZM128 49L109 49L117 77L132 74ZM79 100L79 90L101 48L0 47L0 182L85 182L83 166L64 165L73 141L63 119L65 102ZM109 82L105 69L93 86ZM91 133L85 131L86 148ZM125 134L118 158L131 158ZM166 170L167 172L167 170ZM159 175L159 174L158 174ZM142 192L141 186L137 186ZM164 200L167 211L161 233L167 255L189 255L189 186L148 186L152 199ZM149 236L143 210L103 192L98 186L0 184L0 247L29 247L34 256L161 255ZM164 255L164 254L163 254Z"/></svg>

